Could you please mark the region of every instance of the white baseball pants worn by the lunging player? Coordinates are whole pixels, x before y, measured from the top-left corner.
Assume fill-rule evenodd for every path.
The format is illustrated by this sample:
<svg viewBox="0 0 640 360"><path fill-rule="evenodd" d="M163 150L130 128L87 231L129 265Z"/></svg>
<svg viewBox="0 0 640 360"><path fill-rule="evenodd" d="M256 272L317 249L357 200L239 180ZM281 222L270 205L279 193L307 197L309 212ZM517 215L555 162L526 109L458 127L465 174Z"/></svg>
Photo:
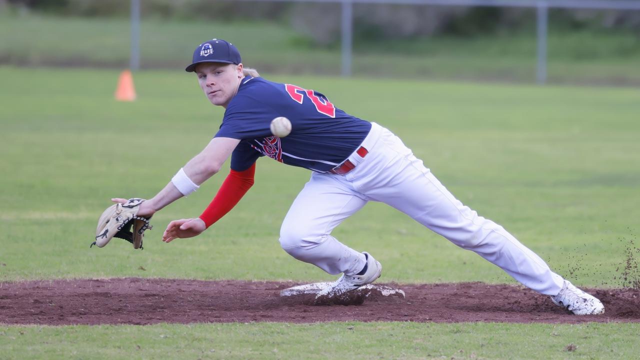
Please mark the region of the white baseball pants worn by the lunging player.
<svg viewBox="0 0 640 360"><path fill-rule="evenodd" d="M388 204L463 249L476 252L532 290L557 295L563 278L500 225L464 206L393 133L373 123L364 157L342 176L313 172L280 230L282 248L329 274L357 274L360 252L331 236L333 228L369 200ZM375 255L374 255L375 256Z"/></svg>

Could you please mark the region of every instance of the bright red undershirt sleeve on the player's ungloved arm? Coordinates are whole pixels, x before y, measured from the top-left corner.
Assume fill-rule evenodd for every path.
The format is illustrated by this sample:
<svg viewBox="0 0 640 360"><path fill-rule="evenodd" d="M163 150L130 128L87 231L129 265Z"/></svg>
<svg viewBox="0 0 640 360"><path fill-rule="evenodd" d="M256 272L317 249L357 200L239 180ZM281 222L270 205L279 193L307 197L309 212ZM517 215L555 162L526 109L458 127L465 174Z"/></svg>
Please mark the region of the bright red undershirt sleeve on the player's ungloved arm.
<svg viewBox="0 0 640 360"><path fill-rule="evenodd" d="M250 168L243 171L231 170L227 179L220 186L220 190L211 200L211 203L202 212L200 218L207 228L214 222L225 216L242 199L244 194L253 185L255 177L255 163Z"/></svg>

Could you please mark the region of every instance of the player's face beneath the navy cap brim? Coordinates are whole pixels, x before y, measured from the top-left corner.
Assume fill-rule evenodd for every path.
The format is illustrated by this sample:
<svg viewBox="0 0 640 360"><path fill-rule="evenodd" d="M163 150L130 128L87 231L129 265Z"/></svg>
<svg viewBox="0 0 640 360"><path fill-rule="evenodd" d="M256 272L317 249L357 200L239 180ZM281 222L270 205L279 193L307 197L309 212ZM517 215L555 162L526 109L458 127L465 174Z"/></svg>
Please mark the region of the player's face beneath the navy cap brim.
<svg viewBox="0 0 640 360"><path fill-rule="evenodd" d="M243 78L242 64L201 63L196 66L200 88L214 105L227 108Z"/></svg>

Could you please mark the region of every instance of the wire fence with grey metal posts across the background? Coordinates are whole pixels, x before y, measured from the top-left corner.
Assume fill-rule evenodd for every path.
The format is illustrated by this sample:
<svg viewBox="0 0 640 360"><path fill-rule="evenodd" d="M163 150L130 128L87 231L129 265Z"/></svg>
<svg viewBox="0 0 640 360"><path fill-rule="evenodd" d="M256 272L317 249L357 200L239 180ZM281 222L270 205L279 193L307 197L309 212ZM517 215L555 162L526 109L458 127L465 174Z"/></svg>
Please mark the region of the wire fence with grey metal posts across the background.
<svg viewBox="0 0 640 360"><path fill-rule="evenodd" d="M0 63L180 70L196 45L217 37L266 74L638 85L634 6L640 1L0 0Z"/></svg>

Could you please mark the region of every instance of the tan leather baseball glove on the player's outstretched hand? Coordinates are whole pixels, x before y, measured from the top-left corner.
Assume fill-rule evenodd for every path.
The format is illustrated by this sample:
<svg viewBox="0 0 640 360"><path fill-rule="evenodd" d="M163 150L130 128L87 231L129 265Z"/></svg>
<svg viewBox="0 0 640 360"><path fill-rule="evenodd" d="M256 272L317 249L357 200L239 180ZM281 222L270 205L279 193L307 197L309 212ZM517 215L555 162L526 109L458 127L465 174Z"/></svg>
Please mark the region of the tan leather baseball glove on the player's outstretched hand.
<svg viewBox="0 0 640 360"><path fill-rule="evenodd" d="M149 225L151 217L137 216L140 204L144 200L134 197L127 200L125 204L118 203L109 206L100 215L98 227L95 229L95 241L90 247L93 245L104 247L116 237L132 243L133 249L143 249L142 238L145 236L145 231L152 228Z"/></svg>

